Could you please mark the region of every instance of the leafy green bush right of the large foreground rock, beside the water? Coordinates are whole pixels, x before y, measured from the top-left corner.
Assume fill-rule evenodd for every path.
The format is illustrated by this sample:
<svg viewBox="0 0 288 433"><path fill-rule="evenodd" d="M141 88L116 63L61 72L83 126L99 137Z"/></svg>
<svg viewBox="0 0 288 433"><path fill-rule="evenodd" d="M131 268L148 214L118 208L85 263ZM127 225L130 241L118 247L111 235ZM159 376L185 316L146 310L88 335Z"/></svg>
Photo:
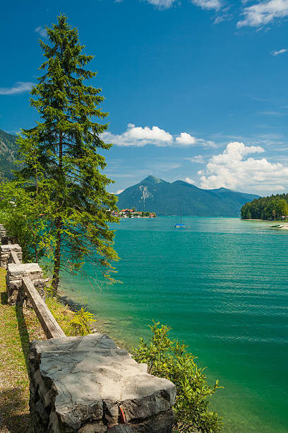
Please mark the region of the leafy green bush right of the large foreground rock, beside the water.
<svg viewBox="0 0 288 433"><path fill-rule="evenodd" d="M181 433L196 429L203 433L220 432L222 422L217 413L209 410L209 398L222 386L218 381L214 386L208 385L204 369L199 369L196 358L186 352L188 346L169 339L171 328L154 322L150 329L152 340L147 343L141 338L139 346L133 348L133 357L148 364L148 373L175 384L174 429Z"/></svg>

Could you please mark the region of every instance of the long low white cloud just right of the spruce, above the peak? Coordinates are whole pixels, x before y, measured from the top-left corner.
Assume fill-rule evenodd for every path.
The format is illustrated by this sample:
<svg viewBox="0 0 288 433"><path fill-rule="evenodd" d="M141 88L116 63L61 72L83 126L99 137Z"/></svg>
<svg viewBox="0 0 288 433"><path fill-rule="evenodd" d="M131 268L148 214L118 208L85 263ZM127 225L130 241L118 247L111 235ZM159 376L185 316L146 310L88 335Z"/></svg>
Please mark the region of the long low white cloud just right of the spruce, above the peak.
<svg viewBox="0 0 288 433"><path fill-rule="evenodd" d="M136 127L133 123L128 123L127 129L122 134L112 134L103 132L102 139L105 142L116 144L116 146L136 146L143 147L147 144L155 146L215 146L214 142L206 142L203 139L196 139L187 132L181 132L177 137L161 129L160 127Z"/></svg>

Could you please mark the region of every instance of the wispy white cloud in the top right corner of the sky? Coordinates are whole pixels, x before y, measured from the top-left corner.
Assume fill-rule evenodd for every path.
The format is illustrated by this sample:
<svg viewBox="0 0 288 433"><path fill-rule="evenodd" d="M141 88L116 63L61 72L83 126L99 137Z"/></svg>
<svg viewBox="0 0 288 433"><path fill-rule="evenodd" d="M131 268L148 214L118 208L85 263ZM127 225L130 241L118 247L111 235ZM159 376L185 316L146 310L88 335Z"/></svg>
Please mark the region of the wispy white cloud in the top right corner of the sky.
<svg viewBox="0 0 288 433"><path fill-rule="evenodd" d="M288 0L259 1L257 4L247 6L242 13L244 19L237 23L237 27L261 27L271 23L275 18L288 16Z"/></svg>

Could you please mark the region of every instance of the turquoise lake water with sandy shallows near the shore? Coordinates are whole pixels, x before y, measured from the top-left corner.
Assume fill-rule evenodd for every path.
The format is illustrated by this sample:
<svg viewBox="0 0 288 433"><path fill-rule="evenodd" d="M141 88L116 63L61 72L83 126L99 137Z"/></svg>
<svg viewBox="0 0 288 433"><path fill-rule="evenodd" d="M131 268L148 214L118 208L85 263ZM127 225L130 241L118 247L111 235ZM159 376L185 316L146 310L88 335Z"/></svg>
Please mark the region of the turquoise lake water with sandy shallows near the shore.
<svg viewBox="0 0 288 433"><path fill-rule="evenodd" d="M183 230L176 222L122 219L122 284L63 275L63 291L126 345L148 337L152 319L172 326L224 386L213 400L224 432L288 432L288 231L239 219L185 217Z"/></svg>

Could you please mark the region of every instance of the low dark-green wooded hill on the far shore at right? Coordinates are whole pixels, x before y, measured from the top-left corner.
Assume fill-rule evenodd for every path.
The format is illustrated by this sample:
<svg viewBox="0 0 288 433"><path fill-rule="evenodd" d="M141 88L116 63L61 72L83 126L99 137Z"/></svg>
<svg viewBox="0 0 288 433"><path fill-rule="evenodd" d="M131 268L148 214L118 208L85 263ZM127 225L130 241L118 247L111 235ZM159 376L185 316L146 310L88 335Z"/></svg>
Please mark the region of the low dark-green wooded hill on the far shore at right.
<svg viewBox="0 0 288 433"><path fill-rule="evenodd" d="M260 197L241 209L242 219L280 219L288 215L288 194Z"/></svg>

